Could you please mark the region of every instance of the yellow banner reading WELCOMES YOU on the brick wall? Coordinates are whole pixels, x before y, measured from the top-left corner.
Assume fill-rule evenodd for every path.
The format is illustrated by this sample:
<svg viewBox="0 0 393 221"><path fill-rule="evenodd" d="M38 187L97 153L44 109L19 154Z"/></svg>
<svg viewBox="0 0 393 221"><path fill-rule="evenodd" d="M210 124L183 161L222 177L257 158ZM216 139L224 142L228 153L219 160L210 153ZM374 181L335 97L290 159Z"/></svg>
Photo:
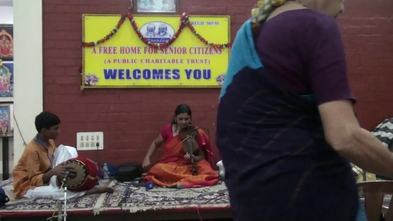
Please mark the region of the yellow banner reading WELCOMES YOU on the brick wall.
<svg viewBox="0 0 393 221"><path fill-rule="evenodd" d="M102 39L120 15L83 15L83 42ZM180 16L136 15L150 42L164 43L179 28ZM214 44L230 42L229 16L190 16L195 31ZM108 41L83 48L83 88L220 87L230 49L211 48L188 27L168 48L154 49L138 38L128 18Z"/></svg>

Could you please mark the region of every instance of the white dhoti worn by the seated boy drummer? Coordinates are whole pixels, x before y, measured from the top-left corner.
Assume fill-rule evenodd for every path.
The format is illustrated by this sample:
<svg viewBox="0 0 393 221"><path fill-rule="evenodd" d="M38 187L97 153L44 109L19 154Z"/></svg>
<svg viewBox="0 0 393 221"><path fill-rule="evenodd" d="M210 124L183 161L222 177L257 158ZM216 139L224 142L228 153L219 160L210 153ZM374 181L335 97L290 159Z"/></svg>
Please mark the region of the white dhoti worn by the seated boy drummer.
<svg viewBox="0 0 393 221"><path fill-rule="evenodd" d="M66 162L69 159L78 157L78 153L74 147L60 145L53 153L53 167ZM83 192L70 192L67 191L67 199L81 197L86 193ZM24 195L26 198L33 199L56 199L64 200L64 188L59 189L57 186L57 176L50 179L48 186L38 186L33 190L28 190Z"/></svg>

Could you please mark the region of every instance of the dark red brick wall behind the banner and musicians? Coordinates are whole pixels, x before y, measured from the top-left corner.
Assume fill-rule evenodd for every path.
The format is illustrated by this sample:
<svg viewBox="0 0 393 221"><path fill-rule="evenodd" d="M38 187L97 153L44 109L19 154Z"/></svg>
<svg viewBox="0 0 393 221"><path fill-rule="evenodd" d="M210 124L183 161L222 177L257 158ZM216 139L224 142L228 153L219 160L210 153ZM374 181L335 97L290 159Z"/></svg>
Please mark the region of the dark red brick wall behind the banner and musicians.
<svg viewBox="0 0 393 221"><path fill-rule="evenodd" d="M104 131L105 149L81 155L100 162L141 161L152 140L170 122L179 103L193 110L193 122L209 129L214 143L218 89L80 90L82 13L127 12L129 0L43 0L44 109L62 119L57 144L76 145L79 131ZM256 0L180 0L180 12L230 15L231 36ZM393 2L347 0L340 18L351 86L362 125L372 129L391 117ZM392 76L390 77L389 76ZM157 157L159 153L156 154Z"/></svg>

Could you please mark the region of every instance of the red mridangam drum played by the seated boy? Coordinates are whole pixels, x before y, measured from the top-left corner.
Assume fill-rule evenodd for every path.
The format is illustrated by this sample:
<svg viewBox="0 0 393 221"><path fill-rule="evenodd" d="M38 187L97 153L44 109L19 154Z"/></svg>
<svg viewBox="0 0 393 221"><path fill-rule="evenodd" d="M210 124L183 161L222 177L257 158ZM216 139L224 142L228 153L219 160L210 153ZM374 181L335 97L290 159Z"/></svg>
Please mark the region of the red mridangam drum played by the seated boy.
<svg viewBox="0 0 393 221"><path fill-rule="evenodd" d="M64 184L70 191L81 192L90 190L99 180L97 164L87 158L77 157L64 162L64 165L72 167L76 171L75 177L66 179ZM62 179L57 177L59 186L62 185Z"/></svg>

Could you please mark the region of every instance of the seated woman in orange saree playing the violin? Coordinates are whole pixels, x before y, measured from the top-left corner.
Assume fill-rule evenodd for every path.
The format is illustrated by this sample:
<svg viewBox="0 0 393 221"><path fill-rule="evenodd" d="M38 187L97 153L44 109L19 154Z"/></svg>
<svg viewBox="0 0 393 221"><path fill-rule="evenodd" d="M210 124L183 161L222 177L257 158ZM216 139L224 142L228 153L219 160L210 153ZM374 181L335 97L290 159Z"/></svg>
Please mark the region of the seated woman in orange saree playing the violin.
<svg viewBox="0 0 393 221"><path fill-rule="evenodd" d="M187 140L184 140L185 136L182 134L182 129L187 129L191 125L191 109L181 104L176 107L174 113L173 122L164 126L147 151L142 165L145 169L151 164L150 157L154 151L165 143L162 157L152 166L144 181L151 181L157 186L182 184L185 188L217 184L219 175L212 168L213 154L208 135L198 129L193 140L194 147L197 147L194 153L196 175L193 175L190 154L184 152L184 145L188 145Z"/></svg>

